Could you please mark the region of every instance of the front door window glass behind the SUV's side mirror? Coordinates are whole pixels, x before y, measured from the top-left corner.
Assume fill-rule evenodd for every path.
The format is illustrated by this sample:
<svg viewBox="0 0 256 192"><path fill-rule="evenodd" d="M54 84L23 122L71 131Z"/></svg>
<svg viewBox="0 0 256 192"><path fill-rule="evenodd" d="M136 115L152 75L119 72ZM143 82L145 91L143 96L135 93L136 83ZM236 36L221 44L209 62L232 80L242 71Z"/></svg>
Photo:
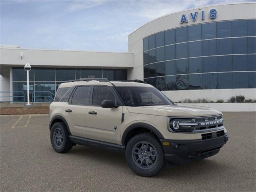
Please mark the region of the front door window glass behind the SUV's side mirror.
<svg viewBox="0 0 256 192"><path fill-rule="evenodd" d="M115 101L115 95L112 90L104 86L95 86L92 94L92 105L100 106L103 100Z"/></svg>

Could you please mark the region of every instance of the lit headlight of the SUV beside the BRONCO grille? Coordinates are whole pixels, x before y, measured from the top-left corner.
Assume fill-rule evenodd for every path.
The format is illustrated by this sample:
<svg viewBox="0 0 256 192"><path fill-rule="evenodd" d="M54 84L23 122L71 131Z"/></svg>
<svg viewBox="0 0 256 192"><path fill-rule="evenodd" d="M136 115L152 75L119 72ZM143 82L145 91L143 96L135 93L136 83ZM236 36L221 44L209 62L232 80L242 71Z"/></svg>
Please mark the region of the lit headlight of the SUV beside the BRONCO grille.
<svg viewBox="0 0 256 192"><path fill-rule="evenodd" d="M190 132L196 125L198 125L198 123L195 123L192 119L171 119L169 130L177 132Z"/></svg>

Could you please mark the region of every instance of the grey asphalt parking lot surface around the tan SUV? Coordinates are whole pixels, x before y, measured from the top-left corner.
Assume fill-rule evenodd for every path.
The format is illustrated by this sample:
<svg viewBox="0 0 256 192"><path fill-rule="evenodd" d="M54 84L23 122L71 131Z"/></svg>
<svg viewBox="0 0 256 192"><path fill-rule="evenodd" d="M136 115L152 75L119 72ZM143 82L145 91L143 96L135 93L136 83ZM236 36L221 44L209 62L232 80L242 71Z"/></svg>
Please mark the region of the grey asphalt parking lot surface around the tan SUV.
<svg viewBox="0 0 256 192"><path fill-rule="evenodd" d="M50 144L48 115L0 116L0 191L255 191L256 113L225 112L229 142L216 156L136 175L123 154Z"/></svg>

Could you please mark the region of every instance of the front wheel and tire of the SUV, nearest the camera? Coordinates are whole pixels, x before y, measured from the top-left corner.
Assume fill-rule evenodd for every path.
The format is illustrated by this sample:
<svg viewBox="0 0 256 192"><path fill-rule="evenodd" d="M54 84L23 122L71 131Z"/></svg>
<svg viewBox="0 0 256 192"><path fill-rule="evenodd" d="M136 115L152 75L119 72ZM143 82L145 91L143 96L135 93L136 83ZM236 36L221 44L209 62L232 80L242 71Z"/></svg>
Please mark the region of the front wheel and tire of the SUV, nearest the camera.
<svg viewBox="0 0 256 192"><path fill-rule="evenodd" d="M165 166L162 146L152 133L142 133L131 138L126 145L125 156L128 166L140 176L154 176Z"/></svg>

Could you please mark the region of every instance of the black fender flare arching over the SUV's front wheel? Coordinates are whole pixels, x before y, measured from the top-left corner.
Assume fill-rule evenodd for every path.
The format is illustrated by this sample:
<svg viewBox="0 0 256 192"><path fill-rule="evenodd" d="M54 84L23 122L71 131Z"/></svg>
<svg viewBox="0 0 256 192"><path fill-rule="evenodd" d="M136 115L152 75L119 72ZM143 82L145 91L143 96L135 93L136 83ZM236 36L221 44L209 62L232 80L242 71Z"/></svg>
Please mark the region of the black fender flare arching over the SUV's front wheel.
<svg viewBox="0 0 256 192"><path fill-rule="evenodd" d="M124 131L124 134L123 134L122 140L121 140L123 146L125 146L125 140L126 140L126 136L128 135L128 133L131 130L136 129L136 128L146 128L146 129L152 131L154 134L156 134L156 136L159 139L164 139L164 136L154 126L147 124L147 123L134 123L134 124L131 124L130 126L128 126L128 128L126 128L126 130Z"/></svg>

